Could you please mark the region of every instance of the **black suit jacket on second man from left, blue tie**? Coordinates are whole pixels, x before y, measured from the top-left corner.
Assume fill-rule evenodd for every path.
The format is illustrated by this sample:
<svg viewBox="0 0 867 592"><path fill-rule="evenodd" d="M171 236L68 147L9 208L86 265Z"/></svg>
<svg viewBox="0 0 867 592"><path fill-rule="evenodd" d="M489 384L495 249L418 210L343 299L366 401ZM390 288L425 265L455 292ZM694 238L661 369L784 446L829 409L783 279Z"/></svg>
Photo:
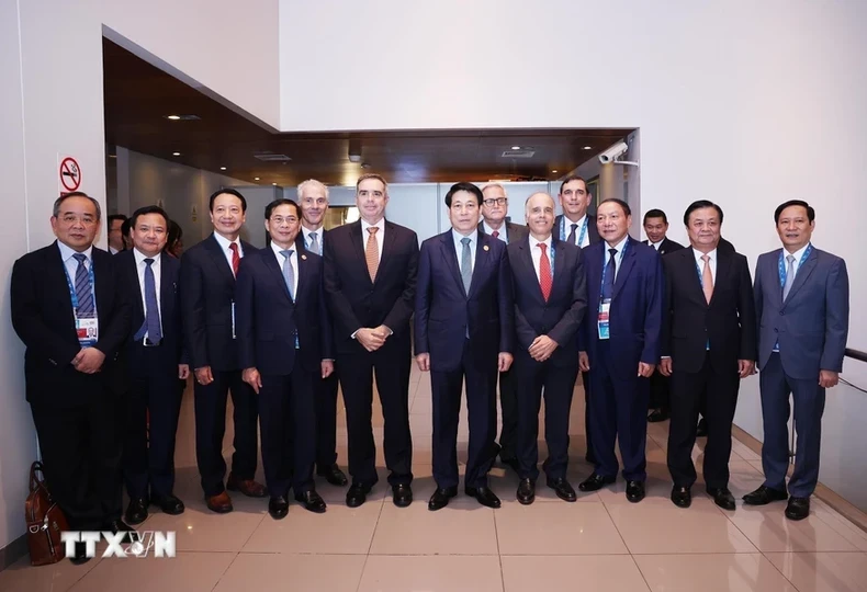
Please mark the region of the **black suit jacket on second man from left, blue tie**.
<svg viewBox="0 0 867 592"><path fill-rule="evenodd" d="M154 369L177 373L178 364L187 363L182 355L180 261L165 252L159 255L159 319L162 323L162 342L154 349L155 355L149 356L157 368L146 363L140 342L136 343L133 339L145 322L145 306L142 301L142 285L134 251L121 251L113 261L131 303L132 322L126 339L130 373L134 376L147 375Z"/></svg>

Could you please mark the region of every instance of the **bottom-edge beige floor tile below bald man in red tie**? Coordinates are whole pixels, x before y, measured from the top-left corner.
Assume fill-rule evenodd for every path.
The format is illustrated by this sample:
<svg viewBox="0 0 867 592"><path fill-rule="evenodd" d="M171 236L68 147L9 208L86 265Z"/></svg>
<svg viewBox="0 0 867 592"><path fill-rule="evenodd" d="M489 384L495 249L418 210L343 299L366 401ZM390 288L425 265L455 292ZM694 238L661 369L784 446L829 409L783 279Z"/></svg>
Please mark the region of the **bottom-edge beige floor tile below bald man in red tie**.
<svg viewBox="0 0 867 592"><path fill-rule="evenodd" d="M629 555L585 555L581 557L504 556L506 592L528 590L604 590L641 592L648 585Z"/></svg>

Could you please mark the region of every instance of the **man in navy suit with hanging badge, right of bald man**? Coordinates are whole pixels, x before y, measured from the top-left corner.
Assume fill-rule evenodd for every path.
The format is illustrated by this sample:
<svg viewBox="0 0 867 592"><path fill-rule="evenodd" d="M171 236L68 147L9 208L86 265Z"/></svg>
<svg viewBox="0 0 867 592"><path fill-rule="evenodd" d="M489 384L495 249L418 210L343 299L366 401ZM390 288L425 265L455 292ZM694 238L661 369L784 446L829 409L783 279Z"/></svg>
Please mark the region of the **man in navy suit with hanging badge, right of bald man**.
<svg viewBox="0 0 867 592"><path fill-rule="evenodd" d="M658 253L629 237L632 216L626 202L599 204L596 224L604 242L584 249L587 309L596 314L582 322L579 363L590 375L597 463L578 489L596 491L615 482L619 442L627 499L638 503L648 479L648 398L660 362L665 281Z"/></svg>

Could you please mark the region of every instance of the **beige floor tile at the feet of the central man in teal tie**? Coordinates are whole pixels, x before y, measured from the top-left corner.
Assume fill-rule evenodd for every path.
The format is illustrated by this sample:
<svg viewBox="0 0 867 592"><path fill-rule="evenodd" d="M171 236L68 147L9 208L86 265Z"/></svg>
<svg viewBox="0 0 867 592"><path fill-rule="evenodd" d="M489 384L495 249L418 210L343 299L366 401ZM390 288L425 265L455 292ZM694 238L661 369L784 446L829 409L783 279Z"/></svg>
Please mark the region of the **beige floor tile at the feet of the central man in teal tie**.
<svg viewBox="0 0 867 592"><path fill-rule="evenodd" d="M494 512L475 500L455 498L431 512L427 500L409 508L386 502L376 524L373 555L496 555Z"/></svg>

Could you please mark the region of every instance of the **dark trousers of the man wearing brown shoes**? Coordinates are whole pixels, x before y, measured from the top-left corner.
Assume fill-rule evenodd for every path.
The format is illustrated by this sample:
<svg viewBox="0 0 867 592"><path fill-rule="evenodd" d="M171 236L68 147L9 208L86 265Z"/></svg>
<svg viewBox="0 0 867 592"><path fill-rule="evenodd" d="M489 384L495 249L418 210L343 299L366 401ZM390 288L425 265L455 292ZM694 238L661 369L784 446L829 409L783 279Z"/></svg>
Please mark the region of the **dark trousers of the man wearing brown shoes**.
<svg viewBox="0 0 867 592"><path fill-rule="evenodd" d="M195 383L195 458L202 476L205 497L218 496L225 490L226 462L223 459L223 436L226 432L226 400L232 391L235 407L235 453L232 473L238 479L256 476L259 444L256 394L245 383L240 371L213 371L210 385Z"/></svg>

